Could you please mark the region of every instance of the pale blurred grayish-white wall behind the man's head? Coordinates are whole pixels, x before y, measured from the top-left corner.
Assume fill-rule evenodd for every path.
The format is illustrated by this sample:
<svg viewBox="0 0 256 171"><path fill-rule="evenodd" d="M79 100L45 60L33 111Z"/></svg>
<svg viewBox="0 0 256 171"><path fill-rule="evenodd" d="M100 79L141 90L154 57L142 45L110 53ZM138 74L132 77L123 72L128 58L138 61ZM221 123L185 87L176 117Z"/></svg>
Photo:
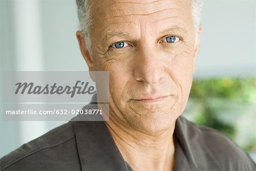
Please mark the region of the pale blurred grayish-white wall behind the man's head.
<svg viewBox="0 0 256 171"><path fill-rule="evenodd" d="M253 0L204 1L195 78L256 75L255 8ZM0 12L1 72L88 70L75 36L75 0L1 0ZM1 119L0 157L62 123Z"/></svg>

